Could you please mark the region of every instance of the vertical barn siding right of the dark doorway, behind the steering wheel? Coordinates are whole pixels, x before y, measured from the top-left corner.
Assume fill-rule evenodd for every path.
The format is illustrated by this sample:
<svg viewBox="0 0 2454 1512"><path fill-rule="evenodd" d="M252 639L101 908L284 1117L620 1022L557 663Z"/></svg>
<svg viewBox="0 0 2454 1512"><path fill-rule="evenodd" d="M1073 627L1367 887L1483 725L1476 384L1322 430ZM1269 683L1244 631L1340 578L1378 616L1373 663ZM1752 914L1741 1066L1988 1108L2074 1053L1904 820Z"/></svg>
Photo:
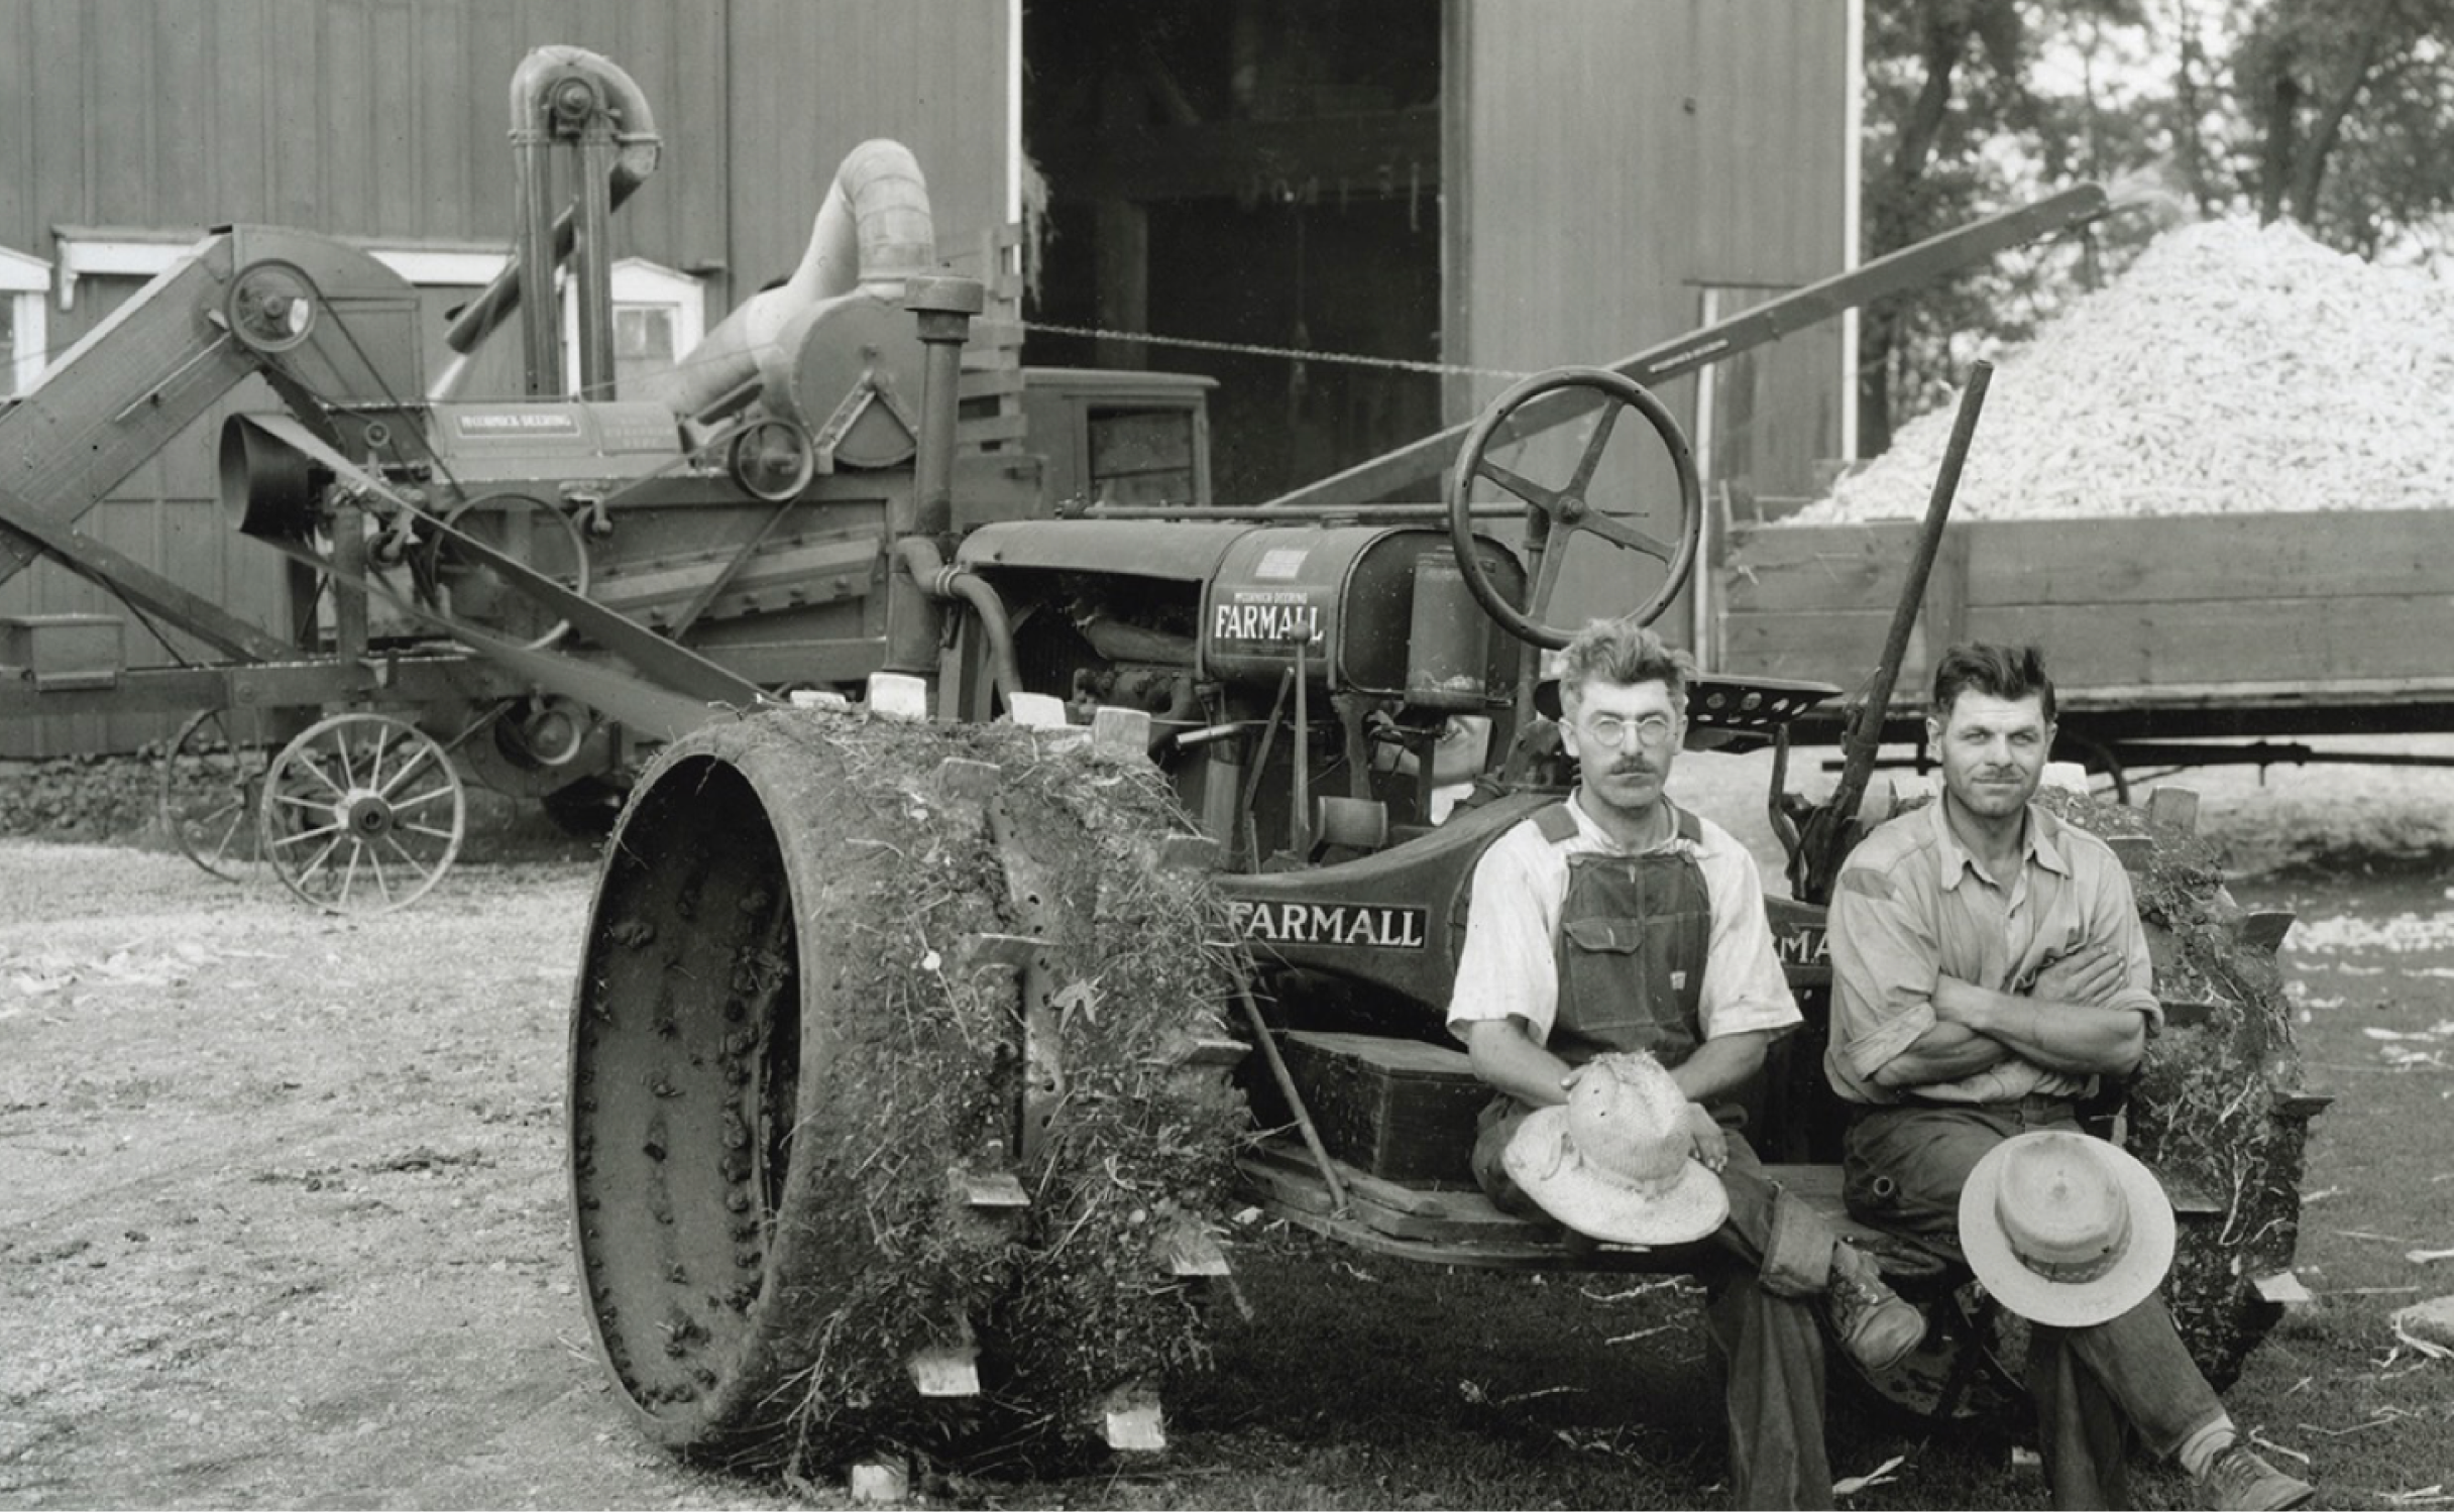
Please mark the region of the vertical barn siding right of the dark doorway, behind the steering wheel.
<svg viewBox="0 0 2454 1512"><path fill-rule="evenodd" d="M1455 5L1448 361L1610 363L1693 329L1708 285L1745 287L1725 299L1737 309L1843 268L1845 0ZM1811 461L1838 454L1838 329L1818 326L1755 356L1750 457L1779 476L1752 486L1804 488ZM1450 385L1448 420L1502 385ZM1664 400L1693 422L1693 380ZM1553 434L1531 452L1541 466L1573 444ZM1671 491L1659 454L1617 466L1600 498ZM1625 569L1578 547L1561 619L1627 609Z"/></svg>

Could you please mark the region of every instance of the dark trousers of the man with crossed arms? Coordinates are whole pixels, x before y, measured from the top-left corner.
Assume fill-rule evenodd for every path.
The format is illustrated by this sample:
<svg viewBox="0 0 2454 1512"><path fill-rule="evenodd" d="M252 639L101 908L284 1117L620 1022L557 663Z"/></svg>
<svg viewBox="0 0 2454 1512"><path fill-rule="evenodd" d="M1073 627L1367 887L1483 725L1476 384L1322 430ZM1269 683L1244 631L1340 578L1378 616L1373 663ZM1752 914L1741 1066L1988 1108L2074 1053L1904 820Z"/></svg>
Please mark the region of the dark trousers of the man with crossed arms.
<svg viewBox="0 0 2454 1512"><path fill-rule="evenodd" d="M1848 1129L1843 1195L1858 1217L1961 1259L1968 1173L1985 1151L2032 1129L2079 1132L2079 1117L2064 1097L1863 1109ZM2216 1389L2152 1294L2088 1328L2032 1325L2027 1392L2056 1512L2118 1512L2130 1500L2133 1441L2172 1456L2223 1419Z"/></svg>

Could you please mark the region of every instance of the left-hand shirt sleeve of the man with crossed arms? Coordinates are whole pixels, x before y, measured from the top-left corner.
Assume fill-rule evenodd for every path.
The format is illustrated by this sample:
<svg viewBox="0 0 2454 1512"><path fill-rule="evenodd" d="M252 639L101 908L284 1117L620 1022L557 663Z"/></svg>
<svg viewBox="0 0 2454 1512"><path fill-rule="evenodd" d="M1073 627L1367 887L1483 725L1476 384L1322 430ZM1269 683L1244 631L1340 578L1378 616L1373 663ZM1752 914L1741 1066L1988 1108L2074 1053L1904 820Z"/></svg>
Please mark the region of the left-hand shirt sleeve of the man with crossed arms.
<svg viewBox="0 0 2454 1512"><path fill-rule="evenodd" d="M1931 911L1904 896L1885 866L1841 869L1826 918L1833 957L1833 1024L1826 1075L1853 1102L1890 1102L1875 1073L1934 1028L1941 952Z"/></svg>

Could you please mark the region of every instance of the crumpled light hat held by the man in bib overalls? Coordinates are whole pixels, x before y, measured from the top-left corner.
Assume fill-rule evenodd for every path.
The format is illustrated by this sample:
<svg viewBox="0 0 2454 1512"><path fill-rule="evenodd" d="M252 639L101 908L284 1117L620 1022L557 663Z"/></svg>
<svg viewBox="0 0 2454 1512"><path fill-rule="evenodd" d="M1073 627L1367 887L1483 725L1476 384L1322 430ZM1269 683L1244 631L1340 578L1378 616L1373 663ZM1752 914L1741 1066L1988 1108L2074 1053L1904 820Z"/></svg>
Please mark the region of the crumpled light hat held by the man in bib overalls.
<svg viewBox="0 0 2454 1512"><path fill-rule="evenodd" d="M1536 1107L1502 1154L1544 1213L1615 1244L1686 1244L1720 1227L1730 1198L1688 1151L1688 1100L1642 1053L1588 1060L1563 1107Z"/></svg>

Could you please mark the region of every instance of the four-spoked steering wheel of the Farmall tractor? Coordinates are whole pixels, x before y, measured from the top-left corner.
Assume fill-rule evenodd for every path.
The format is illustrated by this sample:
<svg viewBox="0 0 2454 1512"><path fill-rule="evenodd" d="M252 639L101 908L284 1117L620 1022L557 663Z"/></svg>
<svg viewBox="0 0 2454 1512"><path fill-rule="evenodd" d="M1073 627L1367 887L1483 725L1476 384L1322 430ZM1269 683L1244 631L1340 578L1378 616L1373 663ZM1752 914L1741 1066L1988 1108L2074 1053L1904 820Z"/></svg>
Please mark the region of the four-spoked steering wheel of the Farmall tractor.
<svg viewBox="0 0 2454 1512"><path fill-rule="evenodd" d="M1563 486L1546 488L1492 461L1492 444L1512 439L1509 422L1519 410L1548 393L1571 388L1600 395L1602 412L1593 425L1593 439L1585 442L1585 454L1575 461L1575 474ZM1602 466L1602 452L1610 447L1610 432L1617 427L1622 410L1634 410L1654 427L1654 434L1661 437L1661 444L1671 454L1671 466L1679 471L1676 540L1637 530L1627 520L1602 513L1585 496ZM1490 479L1526 503L1526 555L1534 557L1536 569L1524 609L1499 594L1490 569L1482 565L1482 555L1475 550L1475 479ZM1482 611L1499 628L1531 646L1558 648L1575 636L1575 628L1548 623L1546 616L1551 614L1551 596L1558 589L1558 565L1568 555L1563 547L1580 530L1600 535L1615 547L1654 557L1669 569L1654 596L1632 611L1637 623L1654 623L1696 569L1696 542L1703 535L1703 484L1696 479L1696 452L1649 388L1607 368L1548 368L1519 380L1492 400L1492 407L1475 420L1475 430L1465 434L1465 449L1458 452L1458 466L1448 476L1448 540L1458 552L1458 572L1465 574L1467 592L1475 594L1475 601L1482 604Z"/></svg>

